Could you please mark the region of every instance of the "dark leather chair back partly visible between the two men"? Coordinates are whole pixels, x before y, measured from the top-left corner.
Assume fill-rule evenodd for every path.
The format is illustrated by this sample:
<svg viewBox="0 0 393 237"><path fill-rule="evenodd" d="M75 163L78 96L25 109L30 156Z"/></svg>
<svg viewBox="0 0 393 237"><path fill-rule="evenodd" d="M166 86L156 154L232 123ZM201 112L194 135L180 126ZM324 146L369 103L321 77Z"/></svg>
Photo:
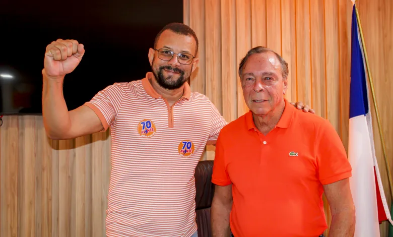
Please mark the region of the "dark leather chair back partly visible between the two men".
<svg viewBox="0 0 393 237"><path fill-rule="evenodd" d="M213 160L199 161L195 168L195 212L197 213L198 237L212 236L210 208L214 195L212 183Z"/></svg>

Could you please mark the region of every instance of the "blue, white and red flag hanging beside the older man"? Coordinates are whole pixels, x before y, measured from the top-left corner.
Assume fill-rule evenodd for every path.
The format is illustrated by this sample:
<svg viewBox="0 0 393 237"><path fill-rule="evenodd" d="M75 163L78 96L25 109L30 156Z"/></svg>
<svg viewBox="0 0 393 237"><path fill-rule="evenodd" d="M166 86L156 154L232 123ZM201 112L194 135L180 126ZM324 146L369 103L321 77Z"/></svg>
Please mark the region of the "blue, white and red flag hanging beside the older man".
<svg viewBox="0 0 393 237"><path fill-rule="evenodd" d="M356 209L355 236L380 236L379 223L390 217L375 156L362 41L355 5L352 10L351 84L348 159L350 186Z"/></svg>

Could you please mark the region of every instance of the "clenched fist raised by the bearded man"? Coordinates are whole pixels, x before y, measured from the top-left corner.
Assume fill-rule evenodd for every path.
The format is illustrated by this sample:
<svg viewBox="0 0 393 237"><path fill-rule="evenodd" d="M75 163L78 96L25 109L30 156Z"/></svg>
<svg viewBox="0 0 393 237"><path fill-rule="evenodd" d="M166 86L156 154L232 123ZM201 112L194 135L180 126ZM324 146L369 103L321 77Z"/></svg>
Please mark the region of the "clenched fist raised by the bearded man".
<svg viewBox="0 0 393 237"><path fill-rule="evenodd" d="M85 49L74 39L53 41L46 47L44 69L48 77L61 78L75 70Z"/></svg>

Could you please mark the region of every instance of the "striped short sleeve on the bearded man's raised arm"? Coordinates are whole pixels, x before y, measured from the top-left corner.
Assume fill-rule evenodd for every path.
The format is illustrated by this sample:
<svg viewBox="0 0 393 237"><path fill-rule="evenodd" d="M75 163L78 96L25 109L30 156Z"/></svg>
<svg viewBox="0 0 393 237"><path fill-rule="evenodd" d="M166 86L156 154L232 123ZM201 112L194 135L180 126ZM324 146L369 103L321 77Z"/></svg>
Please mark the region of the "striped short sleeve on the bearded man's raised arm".
<svg viewBox="0 0 393 237"><path fill-rule="evenodd" d="M123 94L124 89L120 83L115 83L99 91L89 102L85 103L98 115L104 130L107 130L114 124Z"/></svg>

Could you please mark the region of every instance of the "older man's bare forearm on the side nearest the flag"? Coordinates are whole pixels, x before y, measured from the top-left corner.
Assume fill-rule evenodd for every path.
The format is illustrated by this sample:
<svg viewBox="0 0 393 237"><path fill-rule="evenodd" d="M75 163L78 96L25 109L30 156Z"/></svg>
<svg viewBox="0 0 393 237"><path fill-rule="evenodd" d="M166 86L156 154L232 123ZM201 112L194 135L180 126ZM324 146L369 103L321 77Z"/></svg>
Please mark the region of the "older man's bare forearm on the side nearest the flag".
<svg viewBox="0 0 393 237"><path fill-rule="evenodd" d="M352 237L354 232L355 212L353 210L343 210L332 215L329 237Z"/></svg>

